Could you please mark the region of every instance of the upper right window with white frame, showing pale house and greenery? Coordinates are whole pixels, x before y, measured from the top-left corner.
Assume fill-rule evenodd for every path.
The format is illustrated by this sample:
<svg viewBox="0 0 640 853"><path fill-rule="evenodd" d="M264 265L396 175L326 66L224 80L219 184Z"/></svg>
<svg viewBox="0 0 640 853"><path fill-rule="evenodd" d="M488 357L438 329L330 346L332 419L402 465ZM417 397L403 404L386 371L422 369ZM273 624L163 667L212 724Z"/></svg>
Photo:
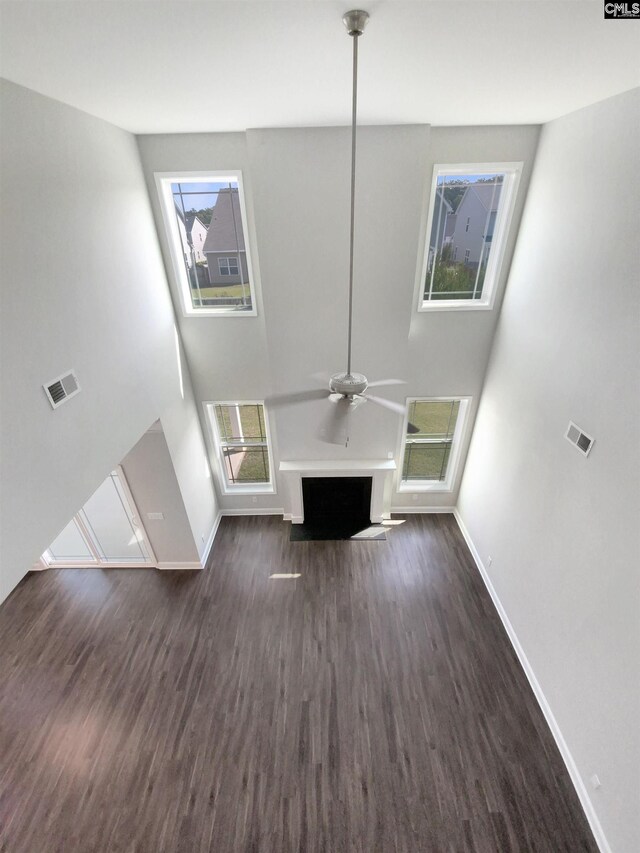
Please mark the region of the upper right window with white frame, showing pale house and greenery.
<svg viewBox="0 0 640 853"><path fill-rule="evenodd" d="M521 165L435 167L420 310L491 305Z"/></svg>

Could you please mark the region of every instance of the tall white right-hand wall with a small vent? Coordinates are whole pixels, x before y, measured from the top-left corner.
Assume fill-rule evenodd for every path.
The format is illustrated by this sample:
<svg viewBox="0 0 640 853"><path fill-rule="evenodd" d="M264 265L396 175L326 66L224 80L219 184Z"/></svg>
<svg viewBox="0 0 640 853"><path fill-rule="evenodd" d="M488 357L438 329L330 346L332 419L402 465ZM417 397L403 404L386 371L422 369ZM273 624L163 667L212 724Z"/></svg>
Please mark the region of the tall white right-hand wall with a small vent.
<svg viewBox="0 0 640 853"><path fill-rule="evenodd" d="M544 128L459 498L615 853L640 850L639 119L636 90Z"/></svg>

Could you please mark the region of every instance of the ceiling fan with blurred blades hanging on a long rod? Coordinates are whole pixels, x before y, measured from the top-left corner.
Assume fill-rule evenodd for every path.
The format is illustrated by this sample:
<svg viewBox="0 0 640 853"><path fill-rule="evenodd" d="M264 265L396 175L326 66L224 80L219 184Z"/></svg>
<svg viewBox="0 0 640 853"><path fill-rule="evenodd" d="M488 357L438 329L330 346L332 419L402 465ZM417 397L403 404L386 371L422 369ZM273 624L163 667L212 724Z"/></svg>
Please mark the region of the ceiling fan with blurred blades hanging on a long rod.
<svg viewBox="0 0 640 853"><path fill-rule="evenodd" d="M347 12L342 18L347 32L353 37L353 97L351 111L351 224L349 229L349 332L347 338L347 369L344 373L335 373L333 376L322 376L316 374L315 378L325 385L324 388L309 391L299 391L293 394L277 394L269 397L266 402L271 406L288 405L292 403L305 403L310 400L328 399L333 403L329 411L329 417L324 427L321 428L319 438L330 444L348 444L346 435L347 417L350 412L367 400L382 406L396 414L405 414L406 407L385 397L374 394L365 394L368 388L382 385L404 385L401 379L380 379L377 382L369 382L362 373L354 373L351 370L351 329L353 325L353 244L355 232L355 183L356 183L356 113L358 96L358 39L364 32L365 25L369 20L368 12L354 9ZM413 424L408 425L410 433L419 432Z"/></svg>

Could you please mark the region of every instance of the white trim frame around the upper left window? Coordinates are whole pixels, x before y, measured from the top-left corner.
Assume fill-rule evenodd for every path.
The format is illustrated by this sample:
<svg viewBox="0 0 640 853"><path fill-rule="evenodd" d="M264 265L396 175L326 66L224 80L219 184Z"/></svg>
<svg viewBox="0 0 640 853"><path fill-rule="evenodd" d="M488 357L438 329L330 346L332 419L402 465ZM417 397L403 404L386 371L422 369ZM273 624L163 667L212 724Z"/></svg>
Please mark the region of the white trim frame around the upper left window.
<svg viewBox="0 0 640 853"><path fill-rule="evenodd" d="M240 169L225 172L154 172L160 207L162 208L162 219L165 226L165 234L171 254L174 284L180 294L182 313L185 317L256 317L258 315L256 305L256 288L254 283L253 265L249 251L249 227L247 225L247 212L244 201L244 185ZM240 218L244 234L244 253L247 259L247 272L249 274L249 292L251 293L251 310L236 311L233 308L194 308L191 301L191 288L184 269L184 258L182 257L180 234L178 223L173 215L173 183L210 183L213 181L235 181L238 184L238 199L240 201Z"/></svg>

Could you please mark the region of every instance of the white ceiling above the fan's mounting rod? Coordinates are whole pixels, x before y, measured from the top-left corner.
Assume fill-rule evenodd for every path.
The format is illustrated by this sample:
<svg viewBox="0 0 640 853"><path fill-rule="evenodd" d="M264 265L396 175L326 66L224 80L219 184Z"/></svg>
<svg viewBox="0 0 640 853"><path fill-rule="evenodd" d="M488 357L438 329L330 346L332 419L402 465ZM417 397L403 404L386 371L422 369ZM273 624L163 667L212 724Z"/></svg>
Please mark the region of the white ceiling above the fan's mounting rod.
<svg viewBox="0 0 640 853"><path fill-rule="evenodd" d="M640 26L602 0L367 0L367 124L549 121L640 83ZM2 76L135 133L347 124L352 8L2 2Z"/></svg>

